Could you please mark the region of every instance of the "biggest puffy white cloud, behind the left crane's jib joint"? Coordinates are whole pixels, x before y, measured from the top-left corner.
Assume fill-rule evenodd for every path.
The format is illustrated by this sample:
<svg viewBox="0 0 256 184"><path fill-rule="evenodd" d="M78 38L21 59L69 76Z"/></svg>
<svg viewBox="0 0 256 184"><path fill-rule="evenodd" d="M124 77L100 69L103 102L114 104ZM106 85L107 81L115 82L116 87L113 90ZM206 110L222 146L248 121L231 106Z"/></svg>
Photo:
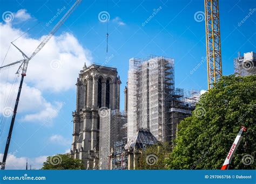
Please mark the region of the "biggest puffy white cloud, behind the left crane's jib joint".
<svg viewBox="0 0 256 184"><path fill-rule="evenodd" d="M0 59L3 61L10 42L18 38L23 31L15 29L11 24L0 23ZM45 38L33 39L28 34L15 41L15 45L24 53L30 55ZM21 53L11 46L4 65L23 59ZM79 41L71 33L62 33L60 36L53 36L42 50L30 61L25 81L41 90L60 92L68 89L75 89L75 82L84 62L90 65L91 53L84 49ZM2 69L1 75L7 72L14 74L18 66L9 69ZM2 77L1 77L2 80Z"/></svg>

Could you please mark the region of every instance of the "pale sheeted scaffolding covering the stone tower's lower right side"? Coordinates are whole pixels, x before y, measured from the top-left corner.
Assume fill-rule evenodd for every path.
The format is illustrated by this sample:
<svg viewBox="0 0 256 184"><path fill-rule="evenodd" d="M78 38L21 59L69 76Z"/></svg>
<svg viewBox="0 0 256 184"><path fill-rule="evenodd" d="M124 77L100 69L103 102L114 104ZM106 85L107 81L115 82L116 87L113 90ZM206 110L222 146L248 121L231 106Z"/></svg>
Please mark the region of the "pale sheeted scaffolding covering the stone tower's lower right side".
<svg viewBox="0 0 256 184"><path fill-rule="evenodd" d="M125 111L103 109L99 126L99 169L110 169L110 154L117 141L127 139Z"/></svg>

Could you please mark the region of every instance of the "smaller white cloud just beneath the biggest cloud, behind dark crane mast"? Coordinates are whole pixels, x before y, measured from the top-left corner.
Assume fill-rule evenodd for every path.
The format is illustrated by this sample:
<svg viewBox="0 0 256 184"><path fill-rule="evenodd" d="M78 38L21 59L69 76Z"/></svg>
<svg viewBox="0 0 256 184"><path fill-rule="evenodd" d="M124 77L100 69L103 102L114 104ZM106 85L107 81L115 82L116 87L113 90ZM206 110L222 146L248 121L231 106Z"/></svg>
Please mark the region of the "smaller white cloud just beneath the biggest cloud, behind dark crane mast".
<svg viewBox="0 0 256 184"><path fill-rule="evenodd" d="M1 113L4 113L4 110L8 107L14 107L17 90L17 84L16 88L12 88L11 83L4 84L0 82ZM10 104L6 104L6 98L11 92L14 93L15 97L12 98L12 102ZM50 125L52 123L52 119L58 115L58 112L63 105L64 103L51 103L46 101L39 89L29 87L26 83L23 83L23 91L21 93L21 100L18 108L18 112L25 113L24 117L22 117L22 121L43 122L45 125Z"/></svg>

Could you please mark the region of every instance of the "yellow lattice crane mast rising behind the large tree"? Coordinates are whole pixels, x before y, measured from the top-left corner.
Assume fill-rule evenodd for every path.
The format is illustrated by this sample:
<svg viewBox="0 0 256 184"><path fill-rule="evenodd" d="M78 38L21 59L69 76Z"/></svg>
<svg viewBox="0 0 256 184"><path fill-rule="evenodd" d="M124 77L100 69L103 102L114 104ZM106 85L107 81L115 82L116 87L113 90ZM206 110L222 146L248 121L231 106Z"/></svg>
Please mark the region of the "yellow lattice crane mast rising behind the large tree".
<svg viewBox="0 0 256 184"><path fill-rule="evenodd" d="M222 76L219 0L205 0L205 33L209 90Z"/></svg>

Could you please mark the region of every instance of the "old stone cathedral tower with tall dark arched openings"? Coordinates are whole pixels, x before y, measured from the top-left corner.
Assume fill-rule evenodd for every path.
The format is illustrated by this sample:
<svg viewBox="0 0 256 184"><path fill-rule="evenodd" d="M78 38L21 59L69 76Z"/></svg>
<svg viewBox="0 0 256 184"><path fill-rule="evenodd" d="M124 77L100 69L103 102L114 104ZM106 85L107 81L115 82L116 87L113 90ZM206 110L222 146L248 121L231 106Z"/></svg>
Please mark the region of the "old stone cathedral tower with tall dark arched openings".
<svg viewBox="0 0 256 184"><path fill-rule="evenodd" d="M83 160L86 169L98 168L99 110L119 110L120 77L117 69L100 65L83 67L77 79L71 155Z"/></svg>

